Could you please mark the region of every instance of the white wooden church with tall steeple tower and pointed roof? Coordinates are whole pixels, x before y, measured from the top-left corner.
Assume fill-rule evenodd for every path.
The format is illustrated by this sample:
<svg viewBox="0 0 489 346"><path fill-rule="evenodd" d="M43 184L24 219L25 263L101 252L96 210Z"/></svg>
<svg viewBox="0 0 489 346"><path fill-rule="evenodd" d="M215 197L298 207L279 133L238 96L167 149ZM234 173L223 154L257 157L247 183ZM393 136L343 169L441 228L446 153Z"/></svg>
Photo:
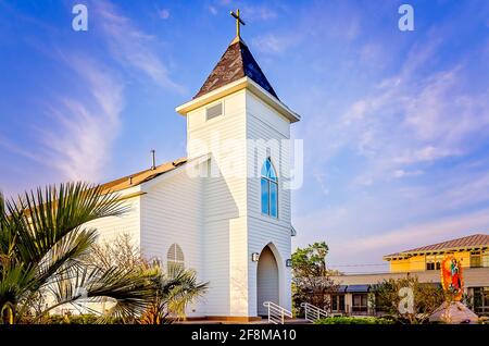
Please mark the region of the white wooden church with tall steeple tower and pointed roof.
<svg viewBox="0 0 489 346"><path fill-rule="evenodd" d="M209 282L189 318L249 321L264 301L291 308L290 125L239 34L197 95L176 108L187 156L103 187L130 207L95 222L102 239L128 234L142 255Z"/></svg>

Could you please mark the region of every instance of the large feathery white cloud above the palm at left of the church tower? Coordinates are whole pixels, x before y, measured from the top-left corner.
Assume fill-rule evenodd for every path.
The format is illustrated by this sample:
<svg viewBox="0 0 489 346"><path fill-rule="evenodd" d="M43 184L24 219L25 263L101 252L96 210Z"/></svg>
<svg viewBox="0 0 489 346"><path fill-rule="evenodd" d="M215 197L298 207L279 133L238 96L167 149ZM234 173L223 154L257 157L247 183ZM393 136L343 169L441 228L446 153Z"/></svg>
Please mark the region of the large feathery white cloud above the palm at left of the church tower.
<svg viewBox="0 0 489 346"><path fill-rule="evenodd" d="M65 180L98 182L110 161L123 109L122 83L105 66L89 58L68 58L66 63L86 85L86 98L60 92L45 113L49 127L38 127L40 155Z"/></svg>

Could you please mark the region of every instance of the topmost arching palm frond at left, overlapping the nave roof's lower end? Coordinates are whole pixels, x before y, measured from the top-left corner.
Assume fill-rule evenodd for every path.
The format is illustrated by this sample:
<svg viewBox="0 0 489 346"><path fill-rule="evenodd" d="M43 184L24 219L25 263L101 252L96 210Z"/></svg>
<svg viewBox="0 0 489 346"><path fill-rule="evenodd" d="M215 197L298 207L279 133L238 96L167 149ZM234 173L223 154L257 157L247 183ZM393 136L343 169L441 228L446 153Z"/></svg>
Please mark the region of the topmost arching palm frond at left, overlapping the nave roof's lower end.
<svg viewBox="0 0 489 346"><path fill-rule="evenodd" d="M104 194L100 186L68 183L38 188L8 201L10 214L23 214L16 220L18 251L25 261L40 261L61 238L80 225L127 211L118 196Z"/></svg>

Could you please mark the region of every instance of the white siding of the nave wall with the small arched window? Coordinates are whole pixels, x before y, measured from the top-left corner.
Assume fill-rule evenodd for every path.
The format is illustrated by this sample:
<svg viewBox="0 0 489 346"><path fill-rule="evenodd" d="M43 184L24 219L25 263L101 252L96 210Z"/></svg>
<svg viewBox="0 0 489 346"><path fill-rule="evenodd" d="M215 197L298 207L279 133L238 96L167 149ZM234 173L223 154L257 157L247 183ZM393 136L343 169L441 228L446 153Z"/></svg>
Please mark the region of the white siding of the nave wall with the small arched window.
<svg viewBox="0 0 489 346"><path fill-rule="evenodd" d="M141 197L141 251L167 264L172 244L180 246L185 268L197 271L206 281L202 243L203 187L200 177L190 177L185 169L172 176L162 175L145 185ZM204 316L205 299L189 307L188 316Z"/></svg>

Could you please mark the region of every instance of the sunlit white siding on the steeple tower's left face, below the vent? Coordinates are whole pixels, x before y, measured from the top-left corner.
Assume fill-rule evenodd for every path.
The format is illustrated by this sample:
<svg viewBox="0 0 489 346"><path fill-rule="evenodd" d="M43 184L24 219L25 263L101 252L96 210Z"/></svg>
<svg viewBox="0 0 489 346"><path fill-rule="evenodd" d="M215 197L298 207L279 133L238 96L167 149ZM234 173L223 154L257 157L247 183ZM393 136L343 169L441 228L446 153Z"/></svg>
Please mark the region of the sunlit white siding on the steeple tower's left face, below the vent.
<svg viewBox="0 0 489 346"><path fill-rule="evenodd" d="M244 99L244 91L223 98L224 114L210 121L206 107L187 114L187 138L198 143L187 147L188 157L211 153L203 194L208 316L248 316Z"/></svg>

